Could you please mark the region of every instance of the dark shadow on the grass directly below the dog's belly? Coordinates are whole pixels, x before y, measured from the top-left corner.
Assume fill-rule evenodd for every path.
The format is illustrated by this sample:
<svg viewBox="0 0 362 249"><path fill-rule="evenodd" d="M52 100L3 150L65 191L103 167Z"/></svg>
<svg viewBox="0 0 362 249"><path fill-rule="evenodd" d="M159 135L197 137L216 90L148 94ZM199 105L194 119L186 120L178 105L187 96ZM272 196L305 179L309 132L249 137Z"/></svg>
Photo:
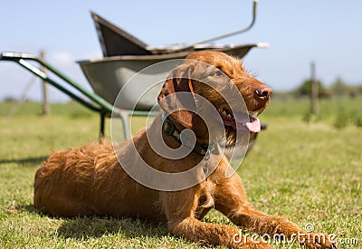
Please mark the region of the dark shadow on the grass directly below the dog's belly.
<svg viewBox="0 0 362 249"><path fill-rule="evenodd" d="M162 236L167 235L167 225L149 223L132 218L113 217L77 217L65 219L57 229L57 235L63 238L88 239L102 235L124 235L126 237Z"/></svg>

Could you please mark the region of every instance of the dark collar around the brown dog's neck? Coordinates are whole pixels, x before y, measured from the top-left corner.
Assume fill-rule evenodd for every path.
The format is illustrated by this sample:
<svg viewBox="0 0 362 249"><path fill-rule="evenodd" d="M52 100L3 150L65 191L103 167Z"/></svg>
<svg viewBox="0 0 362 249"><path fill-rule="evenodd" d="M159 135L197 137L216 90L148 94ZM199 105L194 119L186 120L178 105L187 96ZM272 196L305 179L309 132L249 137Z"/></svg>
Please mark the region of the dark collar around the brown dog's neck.
<svg viewBox="0 0 362 249"><path fill-rule="evenodd" d="M163 116L163 118L162 118L162 120L163 120L162 129L165 131L165 133L168 136L171 136L172 138L176 139L180 144L182 144L182 141L181 141L181 138L180 138L181 131L176 129L176 127L171 122L171 120L168 118L168 116L166 116L166 115L162 115L162 116ZM164 116L166 116L166 117L164 117ZM208 159L208 157L210 157L210 153L214 150L214 148L216 148L216 145L217 145L216 143L213 143L213 144L198 144L198 143L196 143L195 147L193 148L193 151L200 154L201 156L204 156L204 158L207 157L205 159Z"/></svg>

